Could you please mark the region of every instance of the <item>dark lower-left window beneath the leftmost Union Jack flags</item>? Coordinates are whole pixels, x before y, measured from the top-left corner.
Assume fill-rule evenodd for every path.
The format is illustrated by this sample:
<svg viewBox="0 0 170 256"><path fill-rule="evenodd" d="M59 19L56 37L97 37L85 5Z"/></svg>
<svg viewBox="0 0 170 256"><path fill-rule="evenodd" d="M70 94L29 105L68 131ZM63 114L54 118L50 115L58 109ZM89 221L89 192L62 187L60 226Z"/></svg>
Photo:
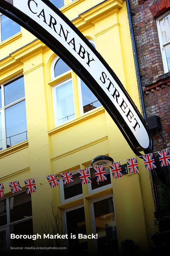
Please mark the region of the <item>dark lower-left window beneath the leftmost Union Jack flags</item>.
<svg viewBox="0 0 170 256"><path fill-rule="evenodd" d="M11 233L33 234L31 194L25 191L0 200L0 255L33 250L32 239L10 239Z"/></svg>

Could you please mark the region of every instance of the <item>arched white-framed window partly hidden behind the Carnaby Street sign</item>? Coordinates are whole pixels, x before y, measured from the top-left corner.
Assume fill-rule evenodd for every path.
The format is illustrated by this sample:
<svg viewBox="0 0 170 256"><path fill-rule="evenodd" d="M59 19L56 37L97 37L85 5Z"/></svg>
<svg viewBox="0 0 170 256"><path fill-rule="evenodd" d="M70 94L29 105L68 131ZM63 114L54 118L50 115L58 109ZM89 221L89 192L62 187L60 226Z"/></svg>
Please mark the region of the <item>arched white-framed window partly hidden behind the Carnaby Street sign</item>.
<svg viewBox="0 0 170 256"><path fill-rule="evenodd" d="M89 41L95 47L94 42ZM53 87L56 126L101 106L92 91L59 57L56 57L51 65L51 77L56 79L56 85ZM78 106L79 111L76 112L75 106Z"/></svg>

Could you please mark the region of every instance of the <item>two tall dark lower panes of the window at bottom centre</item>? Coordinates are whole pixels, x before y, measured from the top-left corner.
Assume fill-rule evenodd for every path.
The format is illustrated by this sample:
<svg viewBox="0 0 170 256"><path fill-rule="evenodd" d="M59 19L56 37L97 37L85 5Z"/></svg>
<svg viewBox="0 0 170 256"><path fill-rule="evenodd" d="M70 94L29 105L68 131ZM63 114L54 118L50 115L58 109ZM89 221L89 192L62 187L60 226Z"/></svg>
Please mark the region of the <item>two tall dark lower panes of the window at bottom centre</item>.
<svg viewBox="0 0 170 256"><path fill-rule="evenodd" d="M98 255L105 255L113 251L118 255L118 239L116 230L116 219L114 212L113 194L108 194L92 200L88 200L90 206L90 219L85 219L84 204L63 210L65 233L68 234L69 252L88 255L89 239L79 238L78 234L89 235L87 226L92 226L92 232L97 234L98 239L93 239L95 252ZM87 216L87 215L86 215ZM89 220L89 218L87 217ZM71 234L75 239L71 239Z"/></svg>

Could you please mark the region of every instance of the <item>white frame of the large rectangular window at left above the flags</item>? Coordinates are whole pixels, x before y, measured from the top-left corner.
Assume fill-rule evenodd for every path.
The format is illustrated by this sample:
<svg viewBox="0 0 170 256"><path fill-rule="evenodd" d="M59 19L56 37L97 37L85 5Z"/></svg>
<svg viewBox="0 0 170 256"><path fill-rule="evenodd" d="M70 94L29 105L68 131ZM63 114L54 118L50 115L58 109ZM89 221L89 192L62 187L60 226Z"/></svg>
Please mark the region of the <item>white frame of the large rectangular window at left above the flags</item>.
<svg viewBox="0 0 170 256"><path fill-rule="evenodd" d="M8 105L5 106L5 97L4 97L4 86L7 84L10 84L12 82L14 82L15 80L20 79L21 77L24 78L23 74L19 74L18 76L13 77L12 79L0 84L0 88L1 88L1 99L2 99L2 108L0 108L0 113L1 113L1 121L2 121L2 150L7 149L7 141L6 141L6 122L5 122L5 110L7 108L10 108L11 106L22 102L24 100L26 100L26 97L22 97ZM26 135L27 136L27 135ZM11 146L12 147L12 146ZM1 152L1 150L0 150Z"/></svg>

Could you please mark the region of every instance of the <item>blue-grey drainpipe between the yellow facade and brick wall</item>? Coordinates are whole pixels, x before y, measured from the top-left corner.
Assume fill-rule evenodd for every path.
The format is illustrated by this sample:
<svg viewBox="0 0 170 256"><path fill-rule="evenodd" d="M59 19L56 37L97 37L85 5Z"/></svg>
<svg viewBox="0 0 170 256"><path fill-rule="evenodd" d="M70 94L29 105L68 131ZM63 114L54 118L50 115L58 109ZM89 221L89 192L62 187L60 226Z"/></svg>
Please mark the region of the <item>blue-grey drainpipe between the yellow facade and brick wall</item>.
<svg viewBox="0 0 170 256"><path fill-rule="evenodd" d="M129 27L130 27L133 55L134 55L134 61L135 61L135 70L136 70L137 83L138 83L138 89L139 89L140 104L142 108L142 116L144 119L146 119L145 104L143 100L143 91L142 91L142 84L140 80L139 64L138 64L138 58L137 58L136 43L135 43L135 36L134 36L133 25L132 25L132 17L131 17L129 0L126 0L126 7L128 11Z"/></svg>

